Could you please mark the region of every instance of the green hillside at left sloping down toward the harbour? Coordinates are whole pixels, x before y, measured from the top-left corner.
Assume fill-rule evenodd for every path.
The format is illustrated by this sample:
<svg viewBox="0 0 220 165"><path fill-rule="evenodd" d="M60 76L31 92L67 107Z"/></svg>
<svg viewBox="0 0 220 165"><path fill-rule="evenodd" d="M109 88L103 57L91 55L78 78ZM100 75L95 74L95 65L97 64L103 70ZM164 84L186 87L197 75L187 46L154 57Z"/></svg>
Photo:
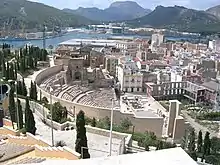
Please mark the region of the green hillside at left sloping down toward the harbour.
<svg viewBox="0 0 220 165"><path fill-rule="evenodd" d="M11 29L48 28L53 26L79 26L90 23L87 18L63 12L62 10L26 0L0 1L0 27Z"/></svg>

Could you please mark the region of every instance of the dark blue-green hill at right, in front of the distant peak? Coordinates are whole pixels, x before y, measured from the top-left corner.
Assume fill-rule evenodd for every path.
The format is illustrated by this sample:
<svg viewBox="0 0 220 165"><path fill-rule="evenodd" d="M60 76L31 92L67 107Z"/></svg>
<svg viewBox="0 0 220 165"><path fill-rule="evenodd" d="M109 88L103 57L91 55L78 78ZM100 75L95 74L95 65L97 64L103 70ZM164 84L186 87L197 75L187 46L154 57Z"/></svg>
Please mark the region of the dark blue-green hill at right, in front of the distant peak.
<svg viewBox="0 0 220 165"><path fill-rule="evenodd" d="M214 15L181 6L158 6L150 14L127 23L133 26L152 26L190 32L220 30L220 21Z"/></svg>

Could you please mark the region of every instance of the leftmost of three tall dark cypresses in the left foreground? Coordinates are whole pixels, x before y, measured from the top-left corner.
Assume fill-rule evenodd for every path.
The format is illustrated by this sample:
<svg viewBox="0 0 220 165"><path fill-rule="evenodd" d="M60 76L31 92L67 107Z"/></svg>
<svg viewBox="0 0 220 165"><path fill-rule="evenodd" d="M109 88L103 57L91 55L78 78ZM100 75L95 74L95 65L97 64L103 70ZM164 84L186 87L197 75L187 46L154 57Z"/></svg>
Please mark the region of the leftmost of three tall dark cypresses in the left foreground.
<svg viewBox="0 0 220 165"><path fill-rule="evenodd" d="M12 122L16 122L16 108L15 108L15 100L14 100L14 87L11 86L9 93L9 113Z"/></svg>

